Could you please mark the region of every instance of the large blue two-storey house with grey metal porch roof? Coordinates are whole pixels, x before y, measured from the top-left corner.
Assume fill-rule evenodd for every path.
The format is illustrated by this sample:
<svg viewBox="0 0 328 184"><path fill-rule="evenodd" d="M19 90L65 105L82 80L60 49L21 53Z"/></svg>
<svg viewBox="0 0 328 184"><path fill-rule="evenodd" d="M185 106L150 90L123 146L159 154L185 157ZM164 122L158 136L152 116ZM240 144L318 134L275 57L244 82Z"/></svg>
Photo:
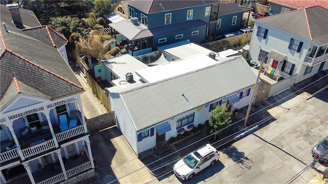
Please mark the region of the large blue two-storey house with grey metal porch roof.
<svg viewBox="0 0 328 184"><path fill-rule="evenodd" d="M211 19L217 17L217 14L213 14L212 6L215 5L218 12L219 3L217 0L136 0L128 3L129 20L109 26L120 33L113 36L133 56L185 39L201 44L209 40Z"/></svg>

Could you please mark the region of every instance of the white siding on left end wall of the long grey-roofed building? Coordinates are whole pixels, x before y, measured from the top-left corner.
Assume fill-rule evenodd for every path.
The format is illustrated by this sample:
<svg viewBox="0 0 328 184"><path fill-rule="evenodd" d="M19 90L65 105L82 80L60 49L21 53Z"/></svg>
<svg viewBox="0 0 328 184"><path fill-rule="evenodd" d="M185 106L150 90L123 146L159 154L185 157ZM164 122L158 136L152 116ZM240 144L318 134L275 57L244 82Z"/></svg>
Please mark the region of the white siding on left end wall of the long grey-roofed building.
<svg viewBox="0 0 328 184"><path fill-rule="evenodd" d="M137 135L136 129L133 125L132 119L129 115L128 110L121 98L121 96L117 93L110 93L111 98L111 108L115 112L116 116L116 125L125 136L127 141L129 142L130 146L132 147L133 151L137 154Z"/></svg>

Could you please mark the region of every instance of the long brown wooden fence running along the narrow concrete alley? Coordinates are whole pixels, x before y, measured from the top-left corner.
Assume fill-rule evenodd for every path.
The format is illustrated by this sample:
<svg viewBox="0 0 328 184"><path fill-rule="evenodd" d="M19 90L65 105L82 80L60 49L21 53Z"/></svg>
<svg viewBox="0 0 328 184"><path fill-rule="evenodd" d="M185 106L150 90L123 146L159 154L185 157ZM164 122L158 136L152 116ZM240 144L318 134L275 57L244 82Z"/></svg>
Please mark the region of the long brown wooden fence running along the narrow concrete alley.
<svg viewBox="0 0 328 184"><path fill-rule="evenodd" d="M92 78L92 76L87 72L87 80L90 88L92 89L93 93L98 97L98 99L101 101L101 104L105 107L107 112L111 112L111 101L107 94L104 92L103 89L100 88L96 80Z"/></svg>

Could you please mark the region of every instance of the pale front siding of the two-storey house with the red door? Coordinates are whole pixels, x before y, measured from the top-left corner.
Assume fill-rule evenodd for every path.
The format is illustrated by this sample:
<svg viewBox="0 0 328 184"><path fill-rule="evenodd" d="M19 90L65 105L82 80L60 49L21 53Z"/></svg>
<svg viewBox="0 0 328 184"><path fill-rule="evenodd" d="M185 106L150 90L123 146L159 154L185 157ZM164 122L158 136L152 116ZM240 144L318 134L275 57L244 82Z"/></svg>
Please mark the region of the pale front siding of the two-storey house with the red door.
<svg viewBox="0 0 328 184"><path fill-rule="evenodd" d="M269 30L266 39L263 39L262 37L256 35L259 26ZM303 42L302 49L299 53L288 48L291 38ZM301 68L303 67L303 60L306 56L307 51L309 50L309 47L310 47L309 40L306 40L304 38L286 32L282 32L280 30L256 22L254 25L254 31L250 43L249 57L252 60L258 62L258 55L260 49L265 50L267 52L275 50L277 52L285 54L286 55L285 60L295 64L295 69L292 75L295 75L297 73L303 75L304 70L302 73ZM271 62L272 59L271 60L268 59L267 64L270 64ZM290 77L291 75L281 71L281 67L282 67L282 63L279 63L277 66L277 70L279 70L280 75L284 78ZM299 80L299 77L297 78L297 80Z"/></svg>

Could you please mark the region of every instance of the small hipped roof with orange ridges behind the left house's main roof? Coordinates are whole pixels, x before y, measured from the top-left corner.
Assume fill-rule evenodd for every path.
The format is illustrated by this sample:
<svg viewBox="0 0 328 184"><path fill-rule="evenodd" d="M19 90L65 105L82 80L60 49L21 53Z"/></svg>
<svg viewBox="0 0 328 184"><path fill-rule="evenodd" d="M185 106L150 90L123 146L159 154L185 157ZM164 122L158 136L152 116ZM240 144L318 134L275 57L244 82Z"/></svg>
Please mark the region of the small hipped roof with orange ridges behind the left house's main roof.
<svg viewBox="0 0 328 184"><path fill-rule="evenodd" d="M56 48L67 43L67 39L63 35L49 26L39 26L22 30L31 37Z"/></svg>

